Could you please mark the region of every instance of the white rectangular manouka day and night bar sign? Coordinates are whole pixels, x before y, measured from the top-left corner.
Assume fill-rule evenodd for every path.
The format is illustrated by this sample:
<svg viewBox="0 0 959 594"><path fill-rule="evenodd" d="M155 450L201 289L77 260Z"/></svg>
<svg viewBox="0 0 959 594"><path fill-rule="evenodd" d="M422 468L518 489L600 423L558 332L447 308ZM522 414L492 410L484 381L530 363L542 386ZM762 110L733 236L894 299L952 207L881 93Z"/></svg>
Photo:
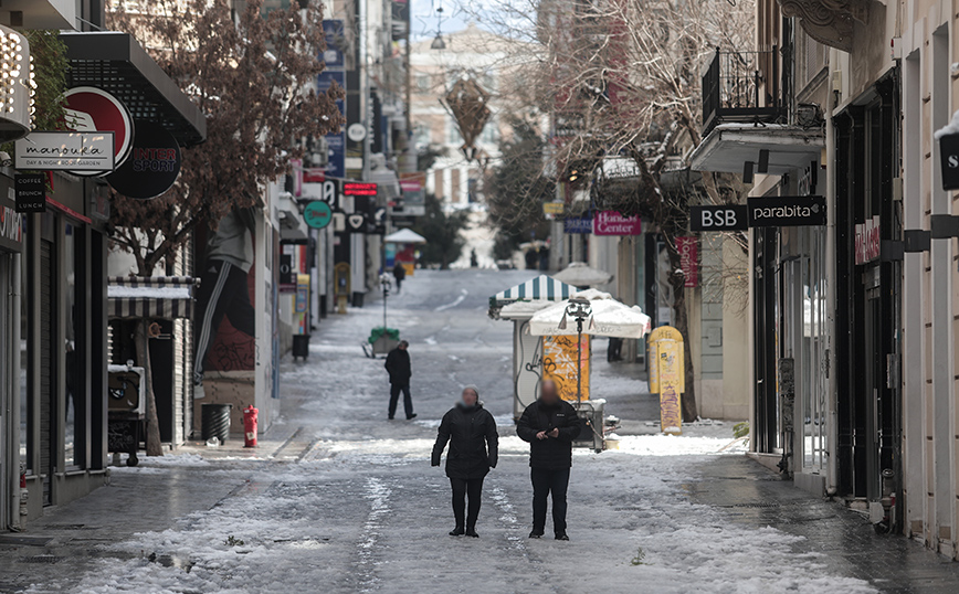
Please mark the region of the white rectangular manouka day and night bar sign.
<svg viewBox="0 0 959 594"><path fill-rule="evenodd" d="M13 144L13 167L44 171L112 171L116 163L113 132L31 132Z"/></svg>

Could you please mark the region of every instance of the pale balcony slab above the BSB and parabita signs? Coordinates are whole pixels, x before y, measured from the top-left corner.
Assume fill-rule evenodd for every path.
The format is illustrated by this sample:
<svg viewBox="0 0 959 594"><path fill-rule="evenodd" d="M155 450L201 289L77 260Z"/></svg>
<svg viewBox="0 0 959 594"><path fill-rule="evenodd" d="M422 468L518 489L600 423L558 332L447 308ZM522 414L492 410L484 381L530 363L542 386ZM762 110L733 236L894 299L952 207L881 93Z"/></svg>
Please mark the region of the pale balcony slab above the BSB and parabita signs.
<svg viewBox="0 0 959 594"><path fill-rule="evenodd" d="M819 162L825 138L821 128L781 124L720 124L689 156L693 171L742 173L747 161L769 151L769 173L782 176ZM758 171L757 171L758 172Z"/></svg>

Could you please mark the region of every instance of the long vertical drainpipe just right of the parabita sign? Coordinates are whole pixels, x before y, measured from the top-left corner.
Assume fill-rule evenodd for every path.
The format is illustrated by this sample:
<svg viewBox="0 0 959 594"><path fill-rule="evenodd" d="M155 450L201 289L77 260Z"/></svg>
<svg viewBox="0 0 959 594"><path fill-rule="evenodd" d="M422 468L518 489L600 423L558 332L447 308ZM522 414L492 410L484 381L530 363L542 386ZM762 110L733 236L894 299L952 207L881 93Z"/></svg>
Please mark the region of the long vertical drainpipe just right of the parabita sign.
<svg viewBox="0 0 959 594"><path fill-rule="evenodd" d="M836 63L839 52L830 49L830 73L832 65ZM836 354L835 354L835 289L836 289L836 245L835 245L835 128L832 119L833 106L825 110L825 278L826 278L826 331L829 333L829 351L826 354L826 370L829 373L829 448L826 450L825 492L830 497L836 494L839 477L836 476Z"/></svg>

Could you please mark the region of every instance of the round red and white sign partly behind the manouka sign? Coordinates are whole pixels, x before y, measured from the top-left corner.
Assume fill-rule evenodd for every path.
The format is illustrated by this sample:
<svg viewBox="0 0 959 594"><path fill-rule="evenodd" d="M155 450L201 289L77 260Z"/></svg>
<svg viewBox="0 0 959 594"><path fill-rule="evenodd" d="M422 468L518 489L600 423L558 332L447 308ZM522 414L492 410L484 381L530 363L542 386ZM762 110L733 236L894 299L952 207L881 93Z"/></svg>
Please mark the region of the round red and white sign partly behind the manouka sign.
<svg viewBox="0 0 959 594"><path fill-rule="evenodd" d="M116 97L92 86L77 86L63 94L66 105L66 124L78 132L114 132L115 166L123 163L129 155L134 138L134 120L126 106ZM113 171L102 169L75 169L77 176L103 176Z"/></svg>

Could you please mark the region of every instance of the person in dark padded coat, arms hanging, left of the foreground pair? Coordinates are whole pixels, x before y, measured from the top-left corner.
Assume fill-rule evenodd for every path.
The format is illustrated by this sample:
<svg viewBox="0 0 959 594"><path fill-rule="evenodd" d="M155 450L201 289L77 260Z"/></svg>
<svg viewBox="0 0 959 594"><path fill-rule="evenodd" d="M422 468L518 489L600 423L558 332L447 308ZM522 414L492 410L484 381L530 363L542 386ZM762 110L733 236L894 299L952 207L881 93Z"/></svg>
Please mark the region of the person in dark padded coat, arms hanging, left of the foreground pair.
<svg viewBox="0 0 959 594"><path fill-rule="evenodd" d="M456 527L451 537L479 538L476 518L479 517L479 500L483 479L491 468L496 468L499 456L499 434L496 421L483 407L479 389L467 385L460 402L443 415L436 443L433 445L433 466L440 466L440 455L450 442L446 454L446 476L453 489L453 518ZM470 498L468 511L466 498Z"/></svg>

